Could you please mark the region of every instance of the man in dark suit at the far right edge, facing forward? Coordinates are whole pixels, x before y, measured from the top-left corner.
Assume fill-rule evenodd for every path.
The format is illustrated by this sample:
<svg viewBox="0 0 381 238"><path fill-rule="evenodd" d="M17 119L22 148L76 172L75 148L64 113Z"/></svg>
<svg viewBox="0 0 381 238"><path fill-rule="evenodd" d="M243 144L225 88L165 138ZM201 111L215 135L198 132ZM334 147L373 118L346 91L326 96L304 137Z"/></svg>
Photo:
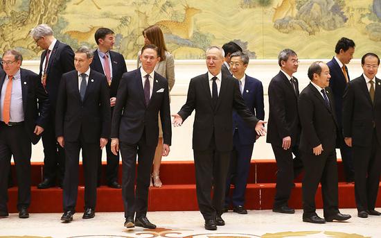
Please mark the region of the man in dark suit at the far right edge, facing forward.
<svg viewBox="0 0 381 238"><path fill-rule="evenodd" d="M343 98L343 134L352 147L357 215L380 216L374 210L381 168L381 80L375 75L380 58L366 53L362 76L349 81Z"/></svg>

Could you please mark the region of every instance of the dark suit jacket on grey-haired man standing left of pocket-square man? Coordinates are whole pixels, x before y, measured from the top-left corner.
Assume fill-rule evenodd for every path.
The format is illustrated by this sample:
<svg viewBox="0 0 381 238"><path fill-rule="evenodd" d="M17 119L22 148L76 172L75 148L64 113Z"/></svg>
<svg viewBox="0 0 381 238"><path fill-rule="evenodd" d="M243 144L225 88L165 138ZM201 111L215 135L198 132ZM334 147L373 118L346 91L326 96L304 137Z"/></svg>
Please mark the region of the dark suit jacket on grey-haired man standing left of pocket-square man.
<svg viewBox="0 0 381 238"><path fill-rule="evenodd" d="M77 142L80 133L87 143L98 143L109 138L111 110L107 79L103 74L90 70L85 98L80 99L78 71L62 75L55 111L55 134L68 142Z"/></svg>

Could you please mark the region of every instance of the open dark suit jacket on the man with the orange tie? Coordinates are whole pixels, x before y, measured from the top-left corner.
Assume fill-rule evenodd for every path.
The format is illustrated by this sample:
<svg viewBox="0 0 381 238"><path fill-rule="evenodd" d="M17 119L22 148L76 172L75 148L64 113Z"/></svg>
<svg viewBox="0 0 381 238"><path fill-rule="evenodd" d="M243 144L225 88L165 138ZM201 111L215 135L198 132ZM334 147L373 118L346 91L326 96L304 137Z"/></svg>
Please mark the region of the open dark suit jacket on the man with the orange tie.
<svg viewBox="0 0 381 238"><path fill-rule="evenodd" d="M28 69L20 69L22 104L24 109L24 127L33 144L37 144L41 135L35 135L35 126L45 128L50 110L48 94L42 86L39 76ZM0 89L3 87L6 72L0 71ZM1 90L0 90L1 94ZM2 105L1 105L2 107Z"/></svg>

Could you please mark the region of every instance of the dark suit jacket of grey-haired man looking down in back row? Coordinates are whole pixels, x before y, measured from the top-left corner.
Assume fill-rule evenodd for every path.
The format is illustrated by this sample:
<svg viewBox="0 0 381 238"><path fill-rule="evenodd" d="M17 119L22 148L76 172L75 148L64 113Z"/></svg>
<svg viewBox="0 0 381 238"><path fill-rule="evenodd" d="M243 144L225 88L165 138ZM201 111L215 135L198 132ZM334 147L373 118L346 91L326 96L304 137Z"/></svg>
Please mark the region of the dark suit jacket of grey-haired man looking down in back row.
<svg viewBox="0 0 381 238"><path fill-rule="evenodd" d="M46 58L46 52L42 52L41 62L39 64L39 78L42 77L42 64ZM60 87L60 80L62 74L74 70L74 52L69 45L64 44L57 40L55 42L53 51L49 56L48 67L46 68L46 87L49 100L51 101L52 108L55 108L57 103L58 88Z"/></svg>

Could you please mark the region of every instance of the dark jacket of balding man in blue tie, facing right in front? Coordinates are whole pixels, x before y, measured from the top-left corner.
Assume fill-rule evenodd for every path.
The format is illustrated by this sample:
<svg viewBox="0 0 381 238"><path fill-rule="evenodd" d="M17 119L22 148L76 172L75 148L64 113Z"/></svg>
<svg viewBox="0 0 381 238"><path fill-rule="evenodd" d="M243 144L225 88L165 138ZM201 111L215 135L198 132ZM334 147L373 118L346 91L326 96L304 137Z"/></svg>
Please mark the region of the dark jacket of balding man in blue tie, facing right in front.
<svg viewBox="0 0 381 238"><path fill-rule="evenodd" d="M330 87L326 87L330 107L312 83L307 85L299 96L299 118L301 121L301 139L299 148L312 153L312 148L323 146L329 153L335 150L338 132L335 114L335 100Z"/></svg>

